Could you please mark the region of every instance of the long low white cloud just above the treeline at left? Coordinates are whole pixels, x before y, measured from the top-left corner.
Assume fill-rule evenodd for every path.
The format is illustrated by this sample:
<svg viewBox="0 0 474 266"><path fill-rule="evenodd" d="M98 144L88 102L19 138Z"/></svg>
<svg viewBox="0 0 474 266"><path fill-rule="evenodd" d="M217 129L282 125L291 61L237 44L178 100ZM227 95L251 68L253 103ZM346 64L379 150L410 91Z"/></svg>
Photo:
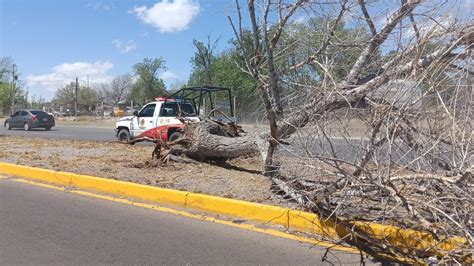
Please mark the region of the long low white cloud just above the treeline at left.
<svg viewBox="0 0 474 266"><path fill-rule="evenodd" d="M87 77L92 84L104 83L112 79L109 71L114 67L109 61L95 63L75 62L56 65L48 74L29 75L26 77L28 86L44 87L50 92L66 84L74 82L76 77L83 83Z"/></svg>

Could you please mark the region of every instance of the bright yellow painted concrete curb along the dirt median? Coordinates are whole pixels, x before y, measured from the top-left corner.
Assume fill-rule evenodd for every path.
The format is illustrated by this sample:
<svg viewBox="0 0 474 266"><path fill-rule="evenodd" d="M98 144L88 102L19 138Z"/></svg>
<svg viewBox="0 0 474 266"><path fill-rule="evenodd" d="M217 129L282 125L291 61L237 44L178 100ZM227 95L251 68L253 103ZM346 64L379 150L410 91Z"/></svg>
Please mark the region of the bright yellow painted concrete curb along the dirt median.
<svg viewBox="0 0 474 266"><path fill-rule="evenodd" d="M395 245L399 251L406 254L414 254L417 250L422 250L432 255L443 255L467 243L466 239L459 237L437 241L427 232L375 223L357 222L354 225L355 228L347 228L331 220L322 220L316 214L298 210L15 164L0 163L0 173L88 191L171 204L264 224L281 225L287 229L331 239L347 239L351 232L363 232L364 238L385 241ZM357 241L357 239L351 241ZM472 257L467 258L467 261L472 261Z"/></svg>

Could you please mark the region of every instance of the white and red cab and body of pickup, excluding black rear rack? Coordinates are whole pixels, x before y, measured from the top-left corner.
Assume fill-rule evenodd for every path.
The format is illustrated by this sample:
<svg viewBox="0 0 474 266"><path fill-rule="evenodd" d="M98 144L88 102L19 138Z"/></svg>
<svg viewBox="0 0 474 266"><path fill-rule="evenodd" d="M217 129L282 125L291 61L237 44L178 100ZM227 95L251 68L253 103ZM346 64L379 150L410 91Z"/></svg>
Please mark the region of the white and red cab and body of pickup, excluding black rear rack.
<svg viewBox="0 0 474 266"><path fill-rule="evenodd" d="M137 138L150 141L162 141L179 138L184 124L178 117L198 121L199 117L191 103L177 99L156 98L135 112L133 116L122 117L115 123L116 137L119 141L129 142Z"/></svg>

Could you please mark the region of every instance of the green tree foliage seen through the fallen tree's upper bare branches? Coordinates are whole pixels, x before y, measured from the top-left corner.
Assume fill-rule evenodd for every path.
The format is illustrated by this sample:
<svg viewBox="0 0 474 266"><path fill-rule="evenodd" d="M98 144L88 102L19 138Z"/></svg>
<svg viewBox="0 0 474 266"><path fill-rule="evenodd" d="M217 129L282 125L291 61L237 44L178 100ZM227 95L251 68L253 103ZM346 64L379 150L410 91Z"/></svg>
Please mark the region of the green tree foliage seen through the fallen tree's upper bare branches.
<svg viewBox="0 0 474 266"><path fill-rule="evenodd" d="M325 43L328 28L331 28L334 23L333 18L315 17L304 23L292 23L287 26L288 30L283 33L275 51L276 54L285 55L276 60L278 68L281 69L280 80L284 81L280 83L317 85L327 77L328 71L331 72L330 78L336 82L347 76L360 53L360 48L351 44L365 43L371 37L367 29L363 27L348 28L340 22L334 29L331 44ZM292 70L292 66L310 58L324 45L327 45L327 50L317 60L321 64L307 64L298 71ZM371 57L371 64L362 76L369 72L376 72L378 69L378 63L381 61L380 53L376 51ZM329 65L331 69L323 69L321 65ZM295 86L288 85L285 88L285 90L290 89L286 92L287 94L292 92L291 88Z"/></svg>

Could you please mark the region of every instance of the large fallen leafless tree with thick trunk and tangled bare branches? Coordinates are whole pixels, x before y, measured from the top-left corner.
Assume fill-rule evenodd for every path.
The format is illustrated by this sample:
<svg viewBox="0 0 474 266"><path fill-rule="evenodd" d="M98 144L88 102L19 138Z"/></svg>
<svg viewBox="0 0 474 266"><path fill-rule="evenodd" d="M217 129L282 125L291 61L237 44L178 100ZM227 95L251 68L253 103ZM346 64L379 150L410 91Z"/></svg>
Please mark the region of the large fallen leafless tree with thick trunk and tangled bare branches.
<svg viewBox="0 0 474 266"><path fill-rule="evenodd" d="M348 228L351 235L338 244L380 260L466 263L474 235L472 18L450 21L454 5L406 0L376 25L377 9L366 4L249 0L246 30L236 1L237 22L229 21L241 67L257 82L268 133L205 119L160 144L167 148L160 156L202 161L258 153L278 193ZM304 34L295 14L309 16ZM344 18L367 29L357 24L341 37ZM305 40L310 30L322 36L316 45ZM393 50L383 53L384 45ZM438 245L407 250L367 236L357 221L463 241L450 252Z"/></svg>

